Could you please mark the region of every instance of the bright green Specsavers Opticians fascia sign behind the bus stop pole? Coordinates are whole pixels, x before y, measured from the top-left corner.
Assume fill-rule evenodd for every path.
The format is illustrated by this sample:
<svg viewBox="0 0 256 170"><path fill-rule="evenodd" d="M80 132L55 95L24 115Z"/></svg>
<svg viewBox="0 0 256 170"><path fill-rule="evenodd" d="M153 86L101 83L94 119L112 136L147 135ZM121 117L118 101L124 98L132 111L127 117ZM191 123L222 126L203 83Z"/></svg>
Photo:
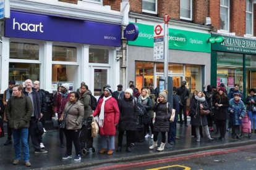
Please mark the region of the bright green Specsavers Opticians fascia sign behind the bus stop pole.
<svg viewBox="0 0 256 170"><path fill-rule="evenodd" d="M135 41L128 41L132 46L153 47L154 26L136 23L139 36ZM169 49L183 51L211 52L211 44L207 42L211 34L169 28Z"/></svg>

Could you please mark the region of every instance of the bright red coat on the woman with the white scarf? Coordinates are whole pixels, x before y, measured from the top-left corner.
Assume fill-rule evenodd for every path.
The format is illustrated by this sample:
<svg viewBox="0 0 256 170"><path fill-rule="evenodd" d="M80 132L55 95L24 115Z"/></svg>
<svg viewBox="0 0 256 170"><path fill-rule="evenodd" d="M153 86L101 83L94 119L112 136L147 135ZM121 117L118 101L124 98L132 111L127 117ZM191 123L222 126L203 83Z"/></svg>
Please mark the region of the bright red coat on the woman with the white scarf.
<svg viewBox="0 0 256 170"><path fill-rule="evenodd" d="M100 109L103 102L103 98L99 100L99 103L93 112L93 116L100 116ZM119 122L119 108L117 105L116 99L114 97L110 97L105 102L104 107L104 124L103 127L100 127L100 135L115 135L116 134L116 126Z"/></svg>

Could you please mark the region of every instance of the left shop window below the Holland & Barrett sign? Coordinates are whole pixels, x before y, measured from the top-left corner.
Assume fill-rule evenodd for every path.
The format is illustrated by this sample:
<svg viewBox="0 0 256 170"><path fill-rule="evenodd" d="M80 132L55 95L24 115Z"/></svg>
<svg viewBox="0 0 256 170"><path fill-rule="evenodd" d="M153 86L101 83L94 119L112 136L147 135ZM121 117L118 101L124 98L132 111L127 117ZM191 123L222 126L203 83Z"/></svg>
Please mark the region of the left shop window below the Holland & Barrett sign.
<svg viewBox="0 0 256 170"><path fill-rule="evenodd" d="M224 84L227 91L239 84L243 90L243 57L242 54L217 52L217 86Z"/></svg>

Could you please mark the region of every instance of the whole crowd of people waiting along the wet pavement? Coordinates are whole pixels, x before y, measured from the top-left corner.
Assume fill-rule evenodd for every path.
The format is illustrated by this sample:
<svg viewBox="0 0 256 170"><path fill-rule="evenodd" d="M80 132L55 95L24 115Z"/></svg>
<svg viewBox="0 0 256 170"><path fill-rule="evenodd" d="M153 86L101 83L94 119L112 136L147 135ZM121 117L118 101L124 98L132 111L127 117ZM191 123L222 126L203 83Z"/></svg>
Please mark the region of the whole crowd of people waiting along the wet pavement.
<svg viewBox="0 0 256 170"><path fill-rule="evenodd" d="M192 136L197 142L201 142L203 131L209 141L213 140L210 131L220 134L221 141L225 140L226 131L230 130L234 139L241 139L242 118L246 115L252 121L251 129L256 133L255 89L250 89L244 100L237 84L229 92L223 84L217 88L208 85L206 91L194 91L190 97L186 81L182 81L181 87L173 87L173 103L169 103L168 91L160 92L159 87L154 89L151 83L140 90L135 88L133 81L129 82L126 90L123 91L122 87L122 84L119 84L117 91L113 91L111 86L106 84L96 108L93 109L92 92L84 82L74 92L69 91L69 84L66 83L58 87L53 98L53 116L59 121L61 148L65 148L64 137L66 138L66 155L62 160L72 158L72 143L75 146L74 161L81 160L82 128L90 126L92 117L96 119L100 128L99 153L107 155L113 155L114 150L122 151L125 133L126 152L132 152L132 145L138 141L142 142L143 140L139 139L145 138L153 139L149 146L150 150L156 148L161 152L166 143L175 145L176 139L179 139L176 136L177 123L181 128L183 125L185 128L189 126L187 116L190 116ZM190 103L187 107L189 98ZM175 118L170 122L173 109ZM13 164L20 163L22 152L25 166L31 166L28 147L30 139L35 153L48 153L42 135L37 132L38 122L44 126L44 115L47 112L46 94L40 89L40 82L32 83L32 80L27 79L22 87L15 85L14 80L10 80L9 87L4 91L1 113L3 110L3 119L7 122L7 141L4 145L12 144L13 139ZM87 141L92 147L92 134L90 131L87 133L87 139L83 141ZM114 145L116 134L117 148ZM158 142L160 134L161 142Z"/></svg>

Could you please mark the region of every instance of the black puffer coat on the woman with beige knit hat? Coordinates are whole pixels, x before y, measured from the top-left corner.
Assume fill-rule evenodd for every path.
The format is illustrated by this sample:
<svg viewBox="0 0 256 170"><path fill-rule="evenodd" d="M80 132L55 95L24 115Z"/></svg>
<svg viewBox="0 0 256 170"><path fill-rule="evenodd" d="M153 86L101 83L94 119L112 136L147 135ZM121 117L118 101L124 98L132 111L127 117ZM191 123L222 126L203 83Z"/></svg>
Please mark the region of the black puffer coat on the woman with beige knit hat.
<svg viewBox="0 0 256 170"><path fill-rule="evenodd" d="M168 132L169 131L169 119L171 118L171 105L168 103L168 108L166 102L155 103L153 106L153 111L156 112L154 131L155 132Z"/></svg>

